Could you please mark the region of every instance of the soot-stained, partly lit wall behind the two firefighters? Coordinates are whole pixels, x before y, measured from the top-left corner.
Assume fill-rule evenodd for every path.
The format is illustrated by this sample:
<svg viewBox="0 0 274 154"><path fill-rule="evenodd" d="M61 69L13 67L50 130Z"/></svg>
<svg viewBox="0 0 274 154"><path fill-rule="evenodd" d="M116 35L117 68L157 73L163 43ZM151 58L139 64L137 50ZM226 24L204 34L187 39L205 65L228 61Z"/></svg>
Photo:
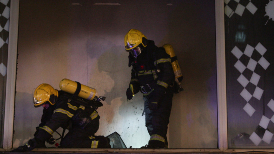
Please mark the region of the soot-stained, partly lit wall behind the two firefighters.
<svg viewBox="0 0 274 154"><path fill-rule="evenodd" d="M214 13L214 0L20 0L13 146L39 124L34 89L48 83L60 90L63 78L106 97L95 135L116 131L127 147L147 144L142 94L126 98L131 68L123 41L134 28L157 46L173 45L184 75L184 91L173 97L169 148L217 148Z"/></svg>

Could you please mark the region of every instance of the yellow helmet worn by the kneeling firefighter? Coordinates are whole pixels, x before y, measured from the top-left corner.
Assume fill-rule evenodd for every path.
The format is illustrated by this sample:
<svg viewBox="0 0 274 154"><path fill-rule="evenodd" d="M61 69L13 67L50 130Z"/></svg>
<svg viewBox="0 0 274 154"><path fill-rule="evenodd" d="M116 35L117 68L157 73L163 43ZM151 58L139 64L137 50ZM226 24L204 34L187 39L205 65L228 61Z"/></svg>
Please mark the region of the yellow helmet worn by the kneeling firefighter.
<svg viewBox="0 0 274 154"><path fill-rule="evenodd" d="M34 91L33 99L34 106L39 106L48 101L50 104L55 104L58 98L58 91L51 85L43 83L40 84Z"/></svg>

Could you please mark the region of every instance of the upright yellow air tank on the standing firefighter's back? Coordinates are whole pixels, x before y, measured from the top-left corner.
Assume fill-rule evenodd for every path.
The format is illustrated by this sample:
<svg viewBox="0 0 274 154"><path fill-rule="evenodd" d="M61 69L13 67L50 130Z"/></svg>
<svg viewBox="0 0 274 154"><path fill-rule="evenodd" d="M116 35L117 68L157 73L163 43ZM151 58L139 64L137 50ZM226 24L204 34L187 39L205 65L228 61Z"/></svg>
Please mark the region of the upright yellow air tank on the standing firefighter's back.
<svg viewBox="0 0 274 154"><path fill-rule="evenodd" d="M174 49L171 44L164 44L163 47L166 50L166 53L171 57L171 65L175 75L175 81L179 85L179 91L183 91L184 89L181 87L181 81L183 80L183 74L181 72L181 68L178 63L177 56L174 53Z"/></svg>

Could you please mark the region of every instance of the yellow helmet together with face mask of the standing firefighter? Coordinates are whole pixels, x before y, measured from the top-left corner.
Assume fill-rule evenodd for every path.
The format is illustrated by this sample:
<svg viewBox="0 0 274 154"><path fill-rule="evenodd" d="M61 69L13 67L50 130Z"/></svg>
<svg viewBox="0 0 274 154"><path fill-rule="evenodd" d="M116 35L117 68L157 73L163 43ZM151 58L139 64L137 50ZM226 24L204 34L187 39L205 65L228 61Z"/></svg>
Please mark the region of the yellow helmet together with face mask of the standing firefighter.
<svg viewBox="0 0 274 154"><path fill-rule="evenodd" d="M133 57L137 57L141 53L141 49L147 46L146 36L136 29L131 29L125 35L126 51L131 52Z"/></svg>

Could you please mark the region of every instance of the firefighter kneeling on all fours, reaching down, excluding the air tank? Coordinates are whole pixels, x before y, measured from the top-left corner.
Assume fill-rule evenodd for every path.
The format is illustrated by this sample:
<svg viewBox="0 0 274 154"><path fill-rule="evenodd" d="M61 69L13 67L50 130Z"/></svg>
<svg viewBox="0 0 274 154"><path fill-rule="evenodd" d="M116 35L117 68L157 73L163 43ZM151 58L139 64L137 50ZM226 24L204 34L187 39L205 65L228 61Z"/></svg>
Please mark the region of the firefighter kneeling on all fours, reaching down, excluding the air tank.
<svg viewBox="0 0 274 154"><path fill-rule="evenodd" d="M43 106L41 123L26 145L11 152L25 152L45 148L45 141L52 138L57 128L68 128L61 139L61 148L111 148L109 139L94 136L99 128L100 116L93 107L80 105L72 94L40 84L34 91L34 106Z"/></svg>

